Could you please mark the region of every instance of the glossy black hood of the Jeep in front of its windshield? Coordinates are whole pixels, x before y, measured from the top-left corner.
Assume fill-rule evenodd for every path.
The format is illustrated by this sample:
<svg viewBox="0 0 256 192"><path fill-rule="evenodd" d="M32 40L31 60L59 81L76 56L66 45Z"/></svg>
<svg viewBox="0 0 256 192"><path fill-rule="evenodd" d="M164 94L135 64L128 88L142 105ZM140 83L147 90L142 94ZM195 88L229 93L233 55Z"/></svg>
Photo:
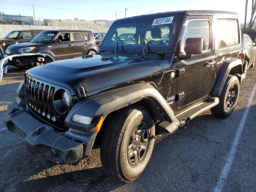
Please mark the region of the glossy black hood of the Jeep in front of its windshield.
<svg viewBox="0 0 256 192"><path fill-rule="evenodd" d="M27 71L27 74L69 89L83 85L88 95L118 84L129 83L160 71L157 56L97 54L55 61Z"/></svg>

